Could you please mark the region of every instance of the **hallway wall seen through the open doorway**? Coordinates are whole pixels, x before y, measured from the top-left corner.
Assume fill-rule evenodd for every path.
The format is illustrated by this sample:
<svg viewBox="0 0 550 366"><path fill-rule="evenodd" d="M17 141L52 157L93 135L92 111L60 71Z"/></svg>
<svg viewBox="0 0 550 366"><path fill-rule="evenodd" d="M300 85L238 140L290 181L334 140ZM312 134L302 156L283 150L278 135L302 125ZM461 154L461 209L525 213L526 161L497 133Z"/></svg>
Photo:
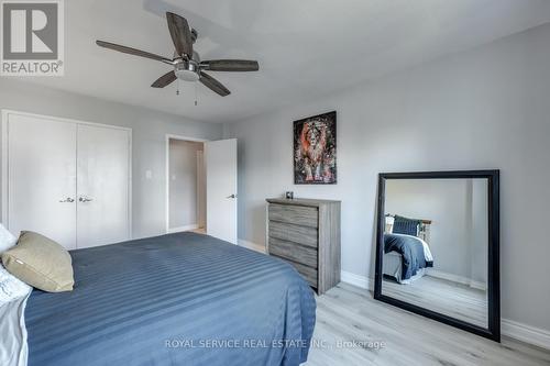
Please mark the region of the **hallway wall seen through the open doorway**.
<svg viewBox="0 0 550 366"><path fill-rule="evenodd" d="M199 223L197 152L202 151L202 143L169 141L169 228L176 229ZM204 211L204 209L201 210Z"/></svg>

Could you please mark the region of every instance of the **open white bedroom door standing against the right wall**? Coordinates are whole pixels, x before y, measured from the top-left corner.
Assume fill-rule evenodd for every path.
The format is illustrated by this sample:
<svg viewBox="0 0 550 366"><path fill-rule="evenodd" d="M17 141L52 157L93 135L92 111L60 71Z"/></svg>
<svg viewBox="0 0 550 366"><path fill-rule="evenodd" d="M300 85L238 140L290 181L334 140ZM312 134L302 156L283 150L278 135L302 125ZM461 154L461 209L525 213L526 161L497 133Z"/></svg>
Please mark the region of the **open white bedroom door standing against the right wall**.
<svg viewBox="0 0 550 366"><path fill-rule="evenodd" d="M237 140L205 143L207 233L237 244Z"/></svg>

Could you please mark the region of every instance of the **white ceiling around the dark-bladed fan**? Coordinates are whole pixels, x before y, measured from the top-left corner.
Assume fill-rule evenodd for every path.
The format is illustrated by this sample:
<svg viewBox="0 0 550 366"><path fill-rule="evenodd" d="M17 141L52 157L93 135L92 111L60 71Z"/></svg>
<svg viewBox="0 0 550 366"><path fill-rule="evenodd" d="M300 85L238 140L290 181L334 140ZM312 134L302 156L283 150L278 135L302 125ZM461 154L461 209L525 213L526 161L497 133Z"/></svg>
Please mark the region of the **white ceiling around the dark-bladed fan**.
<svg viewBox="0 0 550 366"><path fill-rule="evenodd" d="M167 65L95 44L172 56L166 10L199 31L195 48L202 59L257 59L260 73L211 73L232 91L226 98L184 82L176 96L176 84L150 87ZM78 0L65 1L65 76L26 81L229 122L547 23L550 1Z"/></svg>

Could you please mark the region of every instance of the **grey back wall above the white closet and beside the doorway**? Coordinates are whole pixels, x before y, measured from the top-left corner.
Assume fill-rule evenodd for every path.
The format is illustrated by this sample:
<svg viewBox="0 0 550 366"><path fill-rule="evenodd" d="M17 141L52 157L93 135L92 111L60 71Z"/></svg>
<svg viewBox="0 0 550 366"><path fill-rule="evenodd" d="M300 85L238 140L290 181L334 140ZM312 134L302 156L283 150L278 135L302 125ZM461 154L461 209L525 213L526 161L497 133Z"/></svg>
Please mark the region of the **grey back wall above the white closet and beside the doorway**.
<svg viewBox="0 0 550 366"><path fill-rule="evenodd" d="M217 140L222 126L143 108L0 79L0 109L113 124L132 129L133 236L165 232L165 135ZM146 171L151 171L151 178Z"/></svg>

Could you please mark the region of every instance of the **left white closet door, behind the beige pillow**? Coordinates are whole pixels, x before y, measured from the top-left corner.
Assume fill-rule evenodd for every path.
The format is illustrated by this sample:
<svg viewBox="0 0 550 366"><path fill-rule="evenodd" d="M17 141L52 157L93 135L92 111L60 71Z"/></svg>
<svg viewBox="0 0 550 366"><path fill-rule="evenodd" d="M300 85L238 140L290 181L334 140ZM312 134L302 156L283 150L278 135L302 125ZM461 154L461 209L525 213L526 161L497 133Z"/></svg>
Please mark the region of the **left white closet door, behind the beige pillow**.
<svg viewBox="0 0 550 366"><path fill-rule="evenodd" d="M76 124L8 117L8 228L76 247Z"/></svg>

